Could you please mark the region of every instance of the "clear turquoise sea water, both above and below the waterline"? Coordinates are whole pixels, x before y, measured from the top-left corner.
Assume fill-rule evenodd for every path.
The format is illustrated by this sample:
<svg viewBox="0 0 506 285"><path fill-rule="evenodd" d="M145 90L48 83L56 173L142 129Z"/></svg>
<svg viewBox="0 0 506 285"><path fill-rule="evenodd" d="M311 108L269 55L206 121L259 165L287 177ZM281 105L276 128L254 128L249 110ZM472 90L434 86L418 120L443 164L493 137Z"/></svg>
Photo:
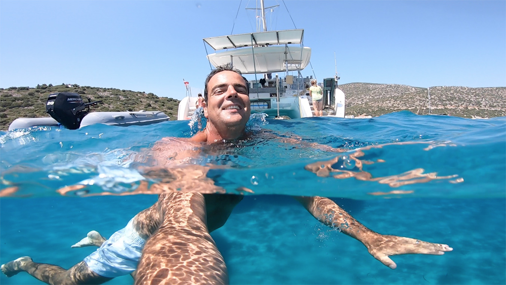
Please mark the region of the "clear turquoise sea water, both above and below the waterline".
<svg viewBox="0 0 506 285"><path fill-rule="evenodd" d="M229 168L212 175L216 185L232 193L239 186L255 192L212 234L231 283L506 283L505 118L399 112L354 120L254 119L251 129L300 138L303 145L258 138L194 162L225 164ZM156 196L62 197L55 190L93 180L91 192L131 191L143 149L162 137L193 132L188 121L2 132L1 187L19 190L17 197L0 198L0 263L26 255L64 268L81 261L94 249L70 245L90 230L110 236ZM309 146L313 142L348 152L315 149ZM332 159L333 172L325 177L304 168ZM366 172L372 179L355 178ZM326 228L286 195L332 197L376 232L446 243L453 251L394 256L397 269L391 270L360 242ZM40 282L20 273L2 274L0 283ZM133 280L123 276L108 283Z"/></svg>

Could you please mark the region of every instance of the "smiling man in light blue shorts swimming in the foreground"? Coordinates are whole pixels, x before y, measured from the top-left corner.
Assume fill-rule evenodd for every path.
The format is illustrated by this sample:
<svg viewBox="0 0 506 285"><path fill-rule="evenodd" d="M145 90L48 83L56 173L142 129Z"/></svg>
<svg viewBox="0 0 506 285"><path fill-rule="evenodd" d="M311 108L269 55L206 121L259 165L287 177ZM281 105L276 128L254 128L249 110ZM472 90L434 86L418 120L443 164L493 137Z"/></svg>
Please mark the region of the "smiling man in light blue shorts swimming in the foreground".
<svg viewBox="0 0 506 285"><path fill-rule="evenodd" d="M166 138L158 142L153 148L158 171L194 157L202 145L245 138L250 115L248 94L247 80L240 72L227 66L213 70L205 81L206 128L189 139ZM167 170L166 181L149 189L163 193L158 201L103 242L99 250L68 270L22 257L2 265L2 271L7 276L26 271L50 284L97 284L133 272L137 267L136 284L228 283L225 262L209 233L225 224L242 196L202 194L220 192L220 187L206 177L208 169L191 165L172 169L174 172ZM194 179L192 189L193 183L197 183L194 191L198 193L178 191L185 189L184 183L188 182L185 177ZM452 250L446 244L373 232L328 198L295 198L316 219L359 240L374 258L392 269L396 268L389 258L392 255L442 255Z"/></svg>

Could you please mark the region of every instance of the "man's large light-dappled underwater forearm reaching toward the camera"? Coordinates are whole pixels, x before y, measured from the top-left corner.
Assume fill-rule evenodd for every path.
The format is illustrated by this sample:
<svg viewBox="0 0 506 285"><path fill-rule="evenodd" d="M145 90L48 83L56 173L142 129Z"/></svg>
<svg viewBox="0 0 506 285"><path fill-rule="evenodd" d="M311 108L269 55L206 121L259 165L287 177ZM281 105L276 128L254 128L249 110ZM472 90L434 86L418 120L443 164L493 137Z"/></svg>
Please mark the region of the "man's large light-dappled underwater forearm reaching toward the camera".
<svg viewBox="0 0 506 285"><path fill-rule="evenodd" d="M136 284L225 284L225 261L206 225L200 193L171 193L160 203L163 222L144 246Z"/></svg>

